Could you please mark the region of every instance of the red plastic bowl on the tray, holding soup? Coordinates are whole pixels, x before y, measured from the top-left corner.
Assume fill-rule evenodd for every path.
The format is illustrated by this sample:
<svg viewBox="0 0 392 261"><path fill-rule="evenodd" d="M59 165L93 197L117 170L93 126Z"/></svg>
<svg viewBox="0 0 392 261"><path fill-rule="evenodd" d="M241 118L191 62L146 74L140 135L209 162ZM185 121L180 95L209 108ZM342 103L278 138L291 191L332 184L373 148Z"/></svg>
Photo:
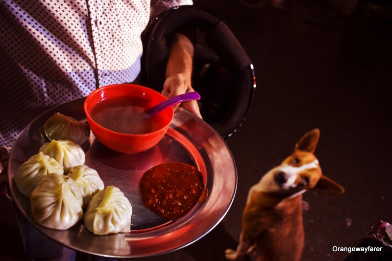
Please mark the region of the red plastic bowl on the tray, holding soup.
<svg viewBox="0 0 392 261"><path fill-rule="evenodd" d="M99 102L124 96L146 99L146 109L166 100L166 97L159 92L139 85L116 84L100 87L90 93L84 102L87 122L98 141L112 150L126 153L146 151L154 147L169 129L174 114L173 108L169 107L155 115L160 129L145 134L124 134L111 131L100 126L91 118L90 112Z"/></svg>

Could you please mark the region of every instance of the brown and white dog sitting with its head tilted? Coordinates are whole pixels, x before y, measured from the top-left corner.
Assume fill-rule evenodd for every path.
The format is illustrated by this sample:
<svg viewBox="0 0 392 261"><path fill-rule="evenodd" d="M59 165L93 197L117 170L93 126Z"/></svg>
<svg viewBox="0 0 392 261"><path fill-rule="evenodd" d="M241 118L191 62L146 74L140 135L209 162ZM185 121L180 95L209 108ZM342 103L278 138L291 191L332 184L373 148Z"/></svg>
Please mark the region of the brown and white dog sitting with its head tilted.
<svg viewBox="0 0 392 261"><path fill-rule="evenodd" d="M341 185L321 173L314 155L320 131L306 133L294 152L265 174L250 190L243 213L237 250L227 249L228 260L242 260L256 247L259 261L300 260L304 245L302 194L344 193Z"/></svg>

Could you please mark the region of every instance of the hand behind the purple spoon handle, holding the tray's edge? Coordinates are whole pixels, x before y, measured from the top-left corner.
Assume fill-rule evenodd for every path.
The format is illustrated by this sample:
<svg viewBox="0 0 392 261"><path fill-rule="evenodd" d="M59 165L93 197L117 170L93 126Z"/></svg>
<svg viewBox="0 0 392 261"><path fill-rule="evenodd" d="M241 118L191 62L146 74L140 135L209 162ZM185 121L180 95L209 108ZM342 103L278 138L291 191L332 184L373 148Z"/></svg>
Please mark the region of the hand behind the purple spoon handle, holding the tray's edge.
<svg viewBox="0 0 392 261"><path fill-rule="evenodd" d="M183 93L195 91L191 86L190 77L186 77L183 74L174 74L169 76L165 83L163 84L162 94L167 98L171 98L176 95L180 95ZM196 101L183 102L180 105L183 109L189 110L197 117L202 119L200 114L200 109ZM174 111L178 107L178 105L173 106Z"/></svg>

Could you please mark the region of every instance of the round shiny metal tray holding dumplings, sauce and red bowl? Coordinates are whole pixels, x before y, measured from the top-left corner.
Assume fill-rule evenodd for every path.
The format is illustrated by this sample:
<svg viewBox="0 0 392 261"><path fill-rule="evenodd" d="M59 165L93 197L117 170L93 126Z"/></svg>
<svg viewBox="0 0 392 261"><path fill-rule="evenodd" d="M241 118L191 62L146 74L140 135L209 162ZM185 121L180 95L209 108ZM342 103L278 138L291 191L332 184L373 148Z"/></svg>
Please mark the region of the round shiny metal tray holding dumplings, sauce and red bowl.
<svg viewBox="0 0 392 261"><path fill-rule="evenodd" d="M10 193L22 214L40 232L78 251L116 258L146 257L171 252L187 246L211 231L225 216L237 188L237 171L233 156L221 136L192 113L181 109L175 114L164 138L146 152L125 154L107 149L90 136L82 145L85 164L98 171L105 187L118 187L132 204L131 232L98 236L82 222L68 230L54 230L36 223L31 216L29 199L14 181L19 166L49 142L43 125L55 112L85 120L84 98L53 109L36 118L19 135L12 148L8 182ZM191 164L203 174L209 191L207 199L195 205L175 221L156 216L143 204L139 181L151 167L168 162Z"/></svg>

